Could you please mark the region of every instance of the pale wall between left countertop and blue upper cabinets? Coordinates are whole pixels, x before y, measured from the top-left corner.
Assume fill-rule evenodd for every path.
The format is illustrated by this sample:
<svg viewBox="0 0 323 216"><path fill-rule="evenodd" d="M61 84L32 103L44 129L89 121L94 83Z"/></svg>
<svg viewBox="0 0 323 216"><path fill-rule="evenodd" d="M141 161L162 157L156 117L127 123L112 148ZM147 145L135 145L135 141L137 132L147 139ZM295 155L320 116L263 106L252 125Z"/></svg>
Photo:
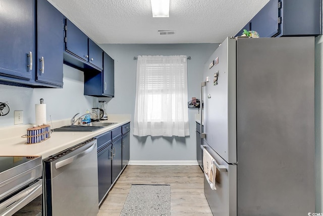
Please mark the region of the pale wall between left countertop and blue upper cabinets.
<svg viewBox="0 0 323 216"><path fill-rule="evenodd" d="M35 104L39 104L40 98L43 98L46 104L47 121L50 119L49 115L52 120L66 119L97 106L96 98L83 95L83 72L65 64L63 71L63 89L31 89L0 85L0 101L8 101L10 106L9 114L0 117L0 127L14 125L14 110L24 111L24 124L34 123Z"/></svg>

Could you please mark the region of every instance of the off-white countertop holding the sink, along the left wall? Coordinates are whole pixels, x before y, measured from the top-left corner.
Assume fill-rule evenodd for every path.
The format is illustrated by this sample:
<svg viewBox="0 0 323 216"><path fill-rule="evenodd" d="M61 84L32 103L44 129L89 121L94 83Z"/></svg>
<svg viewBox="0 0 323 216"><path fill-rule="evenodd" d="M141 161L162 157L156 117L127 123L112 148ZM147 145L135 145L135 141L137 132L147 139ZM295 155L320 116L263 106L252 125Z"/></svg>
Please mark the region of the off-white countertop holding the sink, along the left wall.
<svg viewBox="0 0 323 216"><path fill-rule="evenodd" d="M31 124L0 127L0 156L42 156L42 159L45 159L53 154L75 146L82 141L126 124L130 122L130 120L130 115L109 115L109 120L104 120L102 122L115 122L116 124L91 132L55 131L50 134L50 138L33 144L26 144L26 138L21 137L26 134L27 128L32 127ZM51 125L50 122L47 123ZM69 125L70 119L53 121L52 124L53 128ZM52 129L52 127L50 129Z"/></svg>

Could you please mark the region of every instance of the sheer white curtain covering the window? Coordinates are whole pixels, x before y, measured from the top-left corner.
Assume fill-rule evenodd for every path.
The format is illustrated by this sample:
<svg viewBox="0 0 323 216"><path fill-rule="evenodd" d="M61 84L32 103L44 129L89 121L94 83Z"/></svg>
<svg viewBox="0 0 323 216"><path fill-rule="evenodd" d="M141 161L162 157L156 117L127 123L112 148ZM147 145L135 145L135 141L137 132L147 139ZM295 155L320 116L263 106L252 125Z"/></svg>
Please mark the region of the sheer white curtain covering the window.
<svg viewBox="0 0 323 216"><path fill-rule="evenodd" d="M138 56L134 135L189 135L186 55Z"/></svg>

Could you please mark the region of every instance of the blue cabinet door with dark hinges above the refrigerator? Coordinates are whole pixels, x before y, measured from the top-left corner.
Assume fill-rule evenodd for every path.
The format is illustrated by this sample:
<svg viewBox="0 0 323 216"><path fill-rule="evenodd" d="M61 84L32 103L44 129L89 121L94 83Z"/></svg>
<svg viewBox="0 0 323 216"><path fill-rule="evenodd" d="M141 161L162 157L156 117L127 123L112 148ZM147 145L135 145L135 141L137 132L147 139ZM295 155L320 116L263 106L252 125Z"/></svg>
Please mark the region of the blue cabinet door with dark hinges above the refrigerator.
<svg viewBox="0 0 323 216"><path fill-rule="evenodd" d="M258 32L260 37L278 35L280 33L278 7L278 0L268 2L250 21L250 30Z"/></svg>

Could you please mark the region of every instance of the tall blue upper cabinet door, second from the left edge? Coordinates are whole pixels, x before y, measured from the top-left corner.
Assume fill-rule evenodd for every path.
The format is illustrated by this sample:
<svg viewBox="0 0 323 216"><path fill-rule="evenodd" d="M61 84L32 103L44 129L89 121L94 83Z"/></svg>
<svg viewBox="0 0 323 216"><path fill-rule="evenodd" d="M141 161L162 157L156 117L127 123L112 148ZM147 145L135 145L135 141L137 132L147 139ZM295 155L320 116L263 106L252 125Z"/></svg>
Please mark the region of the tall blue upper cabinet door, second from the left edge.
<svg viewBox="0 0 323 216"><path fill-rule="evenodd" d="M37 82L63 86L63 14L37 0Z"/></svg>

